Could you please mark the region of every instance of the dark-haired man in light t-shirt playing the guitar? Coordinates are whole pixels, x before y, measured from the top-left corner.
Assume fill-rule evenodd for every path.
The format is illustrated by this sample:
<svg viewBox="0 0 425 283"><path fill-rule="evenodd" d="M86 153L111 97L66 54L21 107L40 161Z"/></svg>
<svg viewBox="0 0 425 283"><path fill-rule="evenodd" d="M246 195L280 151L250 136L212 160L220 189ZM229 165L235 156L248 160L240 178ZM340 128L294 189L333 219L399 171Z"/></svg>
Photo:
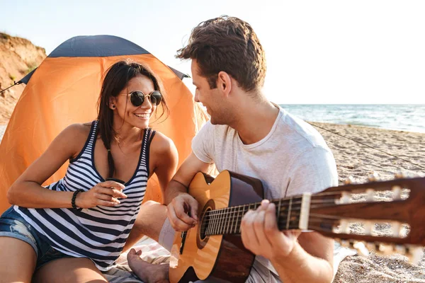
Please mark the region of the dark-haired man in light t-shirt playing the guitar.
<svg viewBox="0 0 425 283"><path fill-rule="evenodd" d="M212 163L259 178L267 199L337 185L334 157L320 134L262 93L266 58L248 23L227 16L200 23L177 57L192 59L195 100L211 119L164 192L168 219L156 228L163 246L171 248L174 230L197 223L198 202L187 187ZM257 255L249 282L331 282L334 242L314 231L280 232L275 215L274 204L263 201L242 221L244 246Z"/></svg>

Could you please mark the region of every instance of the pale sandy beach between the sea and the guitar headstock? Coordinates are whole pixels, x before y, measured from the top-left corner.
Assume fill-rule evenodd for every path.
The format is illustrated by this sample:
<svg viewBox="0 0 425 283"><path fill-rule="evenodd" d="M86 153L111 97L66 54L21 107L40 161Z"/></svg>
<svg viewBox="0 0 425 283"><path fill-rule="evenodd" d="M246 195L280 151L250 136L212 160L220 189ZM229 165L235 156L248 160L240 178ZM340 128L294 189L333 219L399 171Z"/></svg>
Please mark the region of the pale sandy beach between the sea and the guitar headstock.
<svg viewBox="0 0 425 283"><path fill-rule="evenodd" d="M312 124L324 128L316 127L334 153L340 184L350 175L356 182L365 183L373 172L378 173L383 180L394 178L399 171L411 176L425 176L425 134L351 125ZM0 139L5 127L0 125ZM385 195L383 197L389 198ZM356 225L351 226L351 229L362 230ZM379 232L389 233L383 229ZM354 255L341 262L334 282L425 282L425 260L413 265L407 261L407 257L400 254L382 256L371 252L367 257Z"/></svg>

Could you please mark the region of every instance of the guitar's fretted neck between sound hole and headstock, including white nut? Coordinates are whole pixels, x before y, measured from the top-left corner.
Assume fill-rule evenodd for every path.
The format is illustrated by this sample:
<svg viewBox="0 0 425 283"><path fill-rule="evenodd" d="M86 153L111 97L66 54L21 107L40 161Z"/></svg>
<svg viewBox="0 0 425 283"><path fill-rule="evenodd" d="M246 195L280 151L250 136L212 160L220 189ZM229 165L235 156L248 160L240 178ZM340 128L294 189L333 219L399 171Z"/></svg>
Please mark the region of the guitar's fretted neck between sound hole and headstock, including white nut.
<svg viewBox="0 0 425 283"><path fill-rule="evenodd" d="M307 220L310 211L310 194L297 197L288 197L280 200L271 200L276 205L276 221L278 229L307 229ZM205 212L201 233L209 235L226 235L241 233L242 217L250 209L257 209L261 202L226 207Z"/></svg>

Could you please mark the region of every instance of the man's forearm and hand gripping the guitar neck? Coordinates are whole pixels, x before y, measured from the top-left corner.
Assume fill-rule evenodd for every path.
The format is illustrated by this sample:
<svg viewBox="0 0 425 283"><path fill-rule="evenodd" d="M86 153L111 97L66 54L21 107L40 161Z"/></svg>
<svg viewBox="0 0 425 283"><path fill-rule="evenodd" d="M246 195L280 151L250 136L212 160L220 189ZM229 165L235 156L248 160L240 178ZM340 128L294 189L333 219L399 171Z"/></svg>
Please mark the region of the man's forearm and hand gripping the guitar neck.
<svg viewBox="0 0 425 283"><path fill-rule="evenodd" d="M263 201L242 220L244 246L271 261L283 282L331 282L334 241L316 232L278 230L276 206Z"/></svg>

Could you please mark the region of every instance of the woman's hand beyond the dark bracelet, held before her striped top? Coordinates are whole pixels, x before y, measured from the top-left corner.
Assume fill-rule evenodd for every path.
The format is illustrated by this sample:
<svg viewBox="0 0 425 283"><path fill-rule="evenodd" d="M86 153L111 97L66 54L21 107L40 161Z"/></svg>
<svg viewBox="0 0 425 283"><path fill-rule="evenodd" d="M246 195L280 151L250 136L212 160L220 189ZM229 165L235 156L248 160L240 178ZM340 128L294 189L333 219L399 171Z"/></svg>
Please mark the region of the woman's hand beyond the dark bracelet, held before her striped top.
<svg viewBox="0 0 425 283"><path fill-rule="evenodd" d="M87 192L80 192L75 199L75 204L80 208L91 208L98 205L115 207L120 204L118 198L125 199L124 185L115 181L98 183Z"/></svg>

